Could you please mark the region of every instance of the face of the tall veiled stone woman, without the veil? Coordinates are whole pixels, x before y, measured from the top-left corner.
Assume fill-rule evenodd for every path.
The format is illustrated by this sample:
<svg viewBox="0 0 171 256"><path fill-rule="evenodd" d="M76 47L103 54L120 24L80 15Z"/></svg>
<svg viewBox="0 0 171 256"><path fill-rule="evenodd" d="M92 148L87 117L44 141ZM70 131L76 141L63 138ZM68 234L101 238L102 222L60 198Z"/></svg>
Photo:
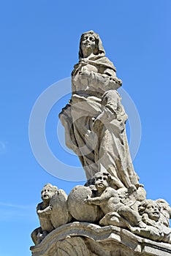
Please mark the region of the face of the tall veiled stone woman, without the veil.
<svg viewBox="0 0 171 256"><path fill-rule="evenodd" d="M80 42L80 48L83 52L83 56L94 53L94 49L96 48L96 40L94 35L84 34Z"/></svg>

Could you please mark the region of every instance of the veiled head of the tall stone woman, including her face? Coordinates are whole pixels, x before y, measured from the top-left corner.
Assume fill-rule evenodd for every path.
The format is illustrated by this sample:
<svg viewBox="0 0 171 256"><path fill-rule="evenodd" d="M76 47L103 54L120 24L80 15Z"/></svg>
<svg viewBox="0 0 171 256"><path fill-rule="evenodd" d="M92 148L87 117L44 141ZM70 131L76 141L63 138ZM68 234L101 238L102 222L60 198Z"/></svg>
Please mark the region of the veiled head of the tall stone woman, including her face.
<svg viewBox="0 0 171 256"><path fill-rule="evenodd" d="M79 59L86 58L91 53L94 53L94 55L105 55L99 35L92 30L81 35Z"/></svg>

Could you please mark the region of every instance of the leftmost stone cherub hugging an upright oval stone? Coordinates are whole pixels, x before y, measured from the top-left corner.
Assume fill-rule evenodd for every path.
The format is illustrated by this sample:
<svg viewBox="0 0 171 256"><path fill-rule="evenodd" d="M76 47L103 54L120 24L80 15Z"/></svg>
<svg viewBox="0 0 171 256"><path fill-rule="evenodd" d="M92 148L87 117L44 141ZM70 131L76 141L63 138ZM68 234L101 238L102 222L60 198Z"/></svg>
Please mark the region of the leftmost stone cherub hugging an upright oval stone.
<svg viewBox="0 0 171 256"><path fill-rule="evenodd" d="M67 196L64 190L52 184L45 184L41 197L42 203L37 205L40 227L31 233L34 244L39 244L48 233L72 219L67 210Z"/></svg>

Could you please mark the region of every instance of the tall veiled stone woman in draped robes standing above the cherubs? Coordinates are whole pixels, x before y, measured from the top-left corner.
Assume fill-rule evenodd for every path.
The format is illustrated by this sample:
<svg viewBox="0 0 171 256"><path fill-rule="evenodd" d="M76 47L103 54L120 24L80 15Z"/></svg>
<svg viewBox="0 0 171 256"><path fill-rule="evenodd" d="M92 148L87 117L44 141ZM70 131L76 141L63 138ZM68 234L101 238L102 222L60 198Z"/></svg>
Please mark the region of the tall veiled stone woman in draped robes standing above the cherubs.
<svg viewBox="0 0 171 256"><path fill-rule="evenodd" d="M59 117L66 146L80 158L88 179L105 168L115 188L138 187L126 138L127 115L117 91L121 83L99 35L82 34L79 62L72 71L72 99Z"/></svg>

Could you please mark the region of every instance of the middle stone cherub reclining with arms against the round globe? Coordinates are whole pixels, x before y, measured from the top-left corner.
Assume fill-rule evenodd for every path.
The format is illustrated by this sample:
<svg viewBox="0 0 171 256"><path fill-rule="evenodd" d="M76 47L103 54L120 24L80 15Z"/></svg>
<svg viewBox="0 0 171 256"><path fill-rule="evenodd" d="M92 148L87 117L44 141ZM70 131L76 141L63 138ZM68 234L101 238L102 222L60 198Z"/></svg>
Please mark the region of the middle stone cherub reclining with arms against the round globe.
<svg viewBox="0 0 171 256"><path fill-rule="evenodd" d="M119 227L145 227L137 211L121 203L118 190L110 187L111 176L107 172L99 172L94 176L96 191L92 197L88 196L86 203L100 206L104 218L101 225L115 225ZM132 185L133 186L133 185ZM136 188L134 188L136 190ZM132 191L134 191L132 189Z"/></svg>

